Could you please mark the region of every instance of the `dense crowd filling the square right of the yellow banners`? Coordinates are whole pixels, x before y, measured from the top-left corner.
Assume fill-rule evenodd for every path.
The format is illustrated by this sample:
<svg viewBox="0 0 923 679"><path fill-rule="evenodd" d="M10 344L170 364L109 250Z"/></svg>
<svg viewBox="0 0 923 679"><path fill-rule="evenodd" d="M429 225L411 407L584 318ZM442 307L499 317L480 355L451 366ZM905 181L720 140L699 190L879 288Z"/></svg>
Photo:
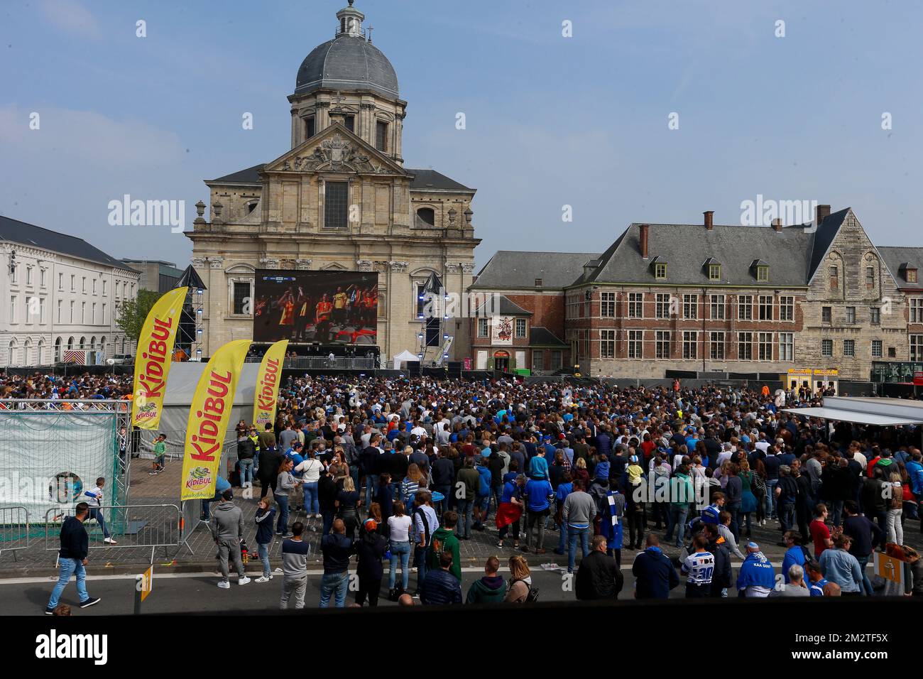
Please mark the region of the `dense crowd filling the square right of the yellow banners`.
<svg viewBox="0 0 923 679"><path fill-rule="evenodd" d="M281 539L283 606L304 605L311 533L323 553L321 606L345 605L354 555L359 604L375 605L379 589L404 603L534 599L525 557L547 548L567 555L581 599L618 596L624 552L633 552L638 598L668 596L680 577L689 597L871 594L865 565L876 548L903 551L919 575L914 593L923 592L923 564L904 540L920 529L912 523L923 495L919 429L783 410L818 405L820 395L678 383L289 379L274 423L236 425L238 463L215 498L218 509L230 507L211 515L222 587L229 560L243 576L233 546L244 527L230 486L258 482L257 581L273 578L269 545ZM669 491L641 491L648 485ZM294 503L304 518L292 523ZM786 547L778 576L754 524L777 529ZM488 527L497 530L497 560L462 593L459 545ZM677 556L664 552L671 542ZM732 555L743 562L733 581Z"/></svg>

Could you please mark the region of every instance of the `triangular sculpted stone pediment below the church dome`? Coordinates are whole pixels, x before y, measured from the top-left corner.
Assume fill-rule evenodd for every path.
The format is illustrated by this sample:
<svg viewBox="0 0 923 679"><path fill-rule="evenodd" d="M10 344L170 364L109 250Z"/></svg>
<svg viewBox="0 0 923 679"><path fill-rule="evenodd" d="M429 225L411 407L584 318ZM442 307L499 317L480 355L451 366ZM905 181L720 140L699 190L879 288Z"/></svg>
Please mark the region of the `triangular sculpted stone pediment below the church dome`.
<svg viewBox="0 0 923 679"><path fill-rule="evenodd" d="M307 139L264 168L264 172L323 171L363 175L407 174L401 166L339 124L331 125L319 135Z"/></svg>

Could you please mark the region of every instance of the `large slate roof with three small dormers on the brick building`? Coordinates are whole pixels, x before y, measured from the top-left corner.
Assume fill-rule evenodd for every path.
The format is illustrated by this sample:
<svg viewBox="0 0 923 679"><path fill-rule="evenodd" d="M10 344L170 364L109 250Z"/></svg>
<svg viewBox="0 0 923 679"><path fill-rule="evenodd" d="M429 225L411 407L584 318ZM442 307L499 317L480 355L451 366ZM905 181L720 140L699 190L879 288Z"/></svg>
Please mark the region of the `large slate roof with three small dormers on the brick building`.
<svg viewBox="0 0 923 679"><path fill-rule="evenodd" d="M647 260L641 258L640 227L631 224L605 251L601 265L577 282L757 285L753 263L761 260L769 265L769 281L762 285L807 285L813 235L805 225L777 232L770 226L715 224L708 231L702 224L648 224ZM709 281L704 264L712 258L721 264L720 282ZM666 263L665 280L654 278L654 260Z"/></svg>

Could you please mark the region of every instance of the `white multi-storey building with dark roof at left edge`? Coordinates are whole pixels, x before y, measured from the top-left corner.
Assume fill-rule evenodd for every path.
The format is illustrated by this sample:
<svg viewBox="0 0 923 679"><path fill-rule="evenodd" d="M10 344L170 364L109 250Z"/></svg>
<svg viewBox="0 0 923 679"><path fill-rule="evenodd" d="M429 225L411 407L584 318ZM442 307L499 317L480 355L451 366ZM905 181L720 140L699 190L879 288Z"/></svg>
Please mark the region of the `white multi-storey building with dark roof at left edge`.
<svg viewBox="0 0 923 679"><path fill-rule="evenodd" d="M134 354L115 318L139 276L82 238L0 216L0 367L49 365L65 349Z"/></svg>

